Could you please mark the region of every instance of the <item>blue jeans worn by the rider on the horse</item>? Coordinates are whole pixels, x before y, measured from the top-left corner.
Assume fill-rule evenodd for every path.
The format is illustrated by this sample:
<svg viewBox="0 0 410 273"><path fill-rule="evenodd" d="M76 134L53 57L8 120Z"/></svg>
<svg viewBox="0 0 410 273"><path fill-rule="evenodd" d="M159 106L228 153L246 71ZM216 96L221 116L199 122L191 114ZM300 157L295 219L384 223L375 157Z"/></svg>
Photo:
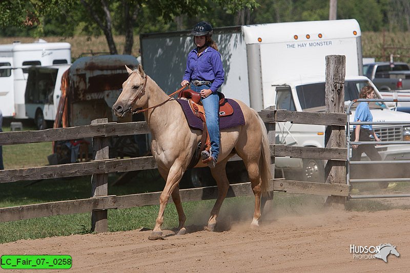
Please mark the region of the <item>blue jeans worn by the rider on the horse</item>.
<svg viewBox="0 0 410 273"><path fill-rule="evenodd" d="M191 89L195 92L201 92L203 89L210 89L211 85L195 86L191 84ZM212 93L206 98L201 98L205 117L207 119L207 128L211 140L211 155L215 160L219 154L219 96Z"/></svg>

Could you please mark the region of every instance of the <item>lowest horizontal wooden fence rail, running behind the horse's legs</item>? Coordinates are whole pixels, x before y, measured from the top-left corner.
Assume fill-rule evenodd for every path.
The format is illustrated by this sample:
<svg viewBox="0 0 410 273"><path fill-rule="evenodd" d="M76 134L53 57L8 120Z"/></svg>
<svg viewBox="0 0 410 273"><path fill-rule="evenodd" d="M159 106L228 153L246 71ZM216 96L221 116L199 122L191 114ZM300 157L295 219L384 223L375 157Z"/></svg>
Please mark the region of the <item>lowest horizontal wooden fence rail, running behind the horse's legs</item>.
<svg viewBox="0 0 410 273"><path fill-rule="evenodd" d="M295 194L320 194L348 196L349 186L346 184L323 184L314 182L275 180L269 183L269 191L285 191ZM188 188L179 190L182 202L216 199L216 186ZM161 192L133 194L124 196L93 197L70 201L49 202L43 204L24 205L0 208L0 222L32 219L56 215L89 213L97 209L130 208L158 205ZM251 183L231 184L227 197L253 195ZM170 199L169 202L172 202Z"/></svg>

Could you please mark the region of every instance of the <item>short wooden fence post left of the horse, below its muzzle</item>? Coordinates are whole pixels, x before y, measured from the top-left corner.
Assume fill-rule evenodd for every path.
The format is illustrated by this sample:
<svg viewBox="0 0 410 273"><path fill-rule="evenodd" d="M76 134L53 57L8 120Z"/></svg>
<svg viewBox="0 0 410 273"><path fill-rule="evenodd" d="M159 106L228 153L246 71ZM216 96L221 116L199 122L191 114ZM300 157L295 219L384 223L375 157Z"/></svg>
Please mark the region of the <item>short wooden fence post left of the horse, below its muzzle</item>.
<svg viewBox="0 0 410 273"><path fill-rule="evenodd" d="M108 118L99 118L91 121L91 125L108 123ZM108 137L93 137L93 160L108 159ZM91 176L91 197L108 195L108 174L93 174ZM91 213L91 231L107 232L107 209L93 210Z"/></svg>

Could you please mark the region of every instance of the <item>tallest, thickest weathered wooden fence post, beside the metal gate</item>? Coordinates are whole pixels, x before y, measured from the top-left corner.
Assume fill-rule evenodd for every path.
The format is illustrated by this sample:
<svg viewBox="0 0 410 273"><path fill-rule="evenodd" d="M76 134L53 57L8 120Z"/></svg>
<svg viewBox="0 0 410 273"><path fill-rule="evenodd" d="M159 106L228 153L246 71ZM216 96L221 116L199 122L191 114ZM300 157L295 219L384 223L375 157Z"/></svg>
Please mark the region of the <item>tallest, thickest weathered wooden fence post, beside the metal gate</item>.
<svg viewBox="0 0 410 273"><path fill-rule="evenodd" d="M344 76L346 56L326 56L326 86L325 104L326 113L344 113ZM348 130L348 128L347 128ZM326 148L346 148L345 127L329 125L324 137ZM341 160L327 160L324 168L326 183L346 183L346 162ZM344 208L346 198L329 196L327 205L336 205Z"/></svg>

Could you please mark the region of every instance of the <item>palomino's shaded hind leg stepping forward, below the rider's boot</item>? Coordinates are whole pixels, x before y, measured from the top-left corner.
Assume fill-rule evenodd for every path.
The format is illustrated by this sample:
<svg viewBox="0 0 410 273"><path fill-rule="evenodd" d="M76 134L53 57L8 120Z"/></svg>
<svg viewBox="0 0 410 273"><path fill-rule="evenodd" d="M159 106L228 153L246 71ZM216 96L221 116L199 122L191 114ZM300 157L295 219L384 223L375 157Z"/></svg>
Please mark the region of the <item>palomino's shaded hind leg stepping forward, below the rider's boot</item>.
<svg viewBox="0 0 410 273"><path fill-rule="evenodd" d="M224 159L216 165L215 169L211 169L212 176L216 180L218 186L218 197L216 198L215 205L212 208L211 217L208 220L207 229L210 231L215 230L217 221L216 218L218 217L219 210L222 206L222 202L227 196L229 189L229 180L227 177L227 172L225 170L227 162L228 159Z"/></svg>

